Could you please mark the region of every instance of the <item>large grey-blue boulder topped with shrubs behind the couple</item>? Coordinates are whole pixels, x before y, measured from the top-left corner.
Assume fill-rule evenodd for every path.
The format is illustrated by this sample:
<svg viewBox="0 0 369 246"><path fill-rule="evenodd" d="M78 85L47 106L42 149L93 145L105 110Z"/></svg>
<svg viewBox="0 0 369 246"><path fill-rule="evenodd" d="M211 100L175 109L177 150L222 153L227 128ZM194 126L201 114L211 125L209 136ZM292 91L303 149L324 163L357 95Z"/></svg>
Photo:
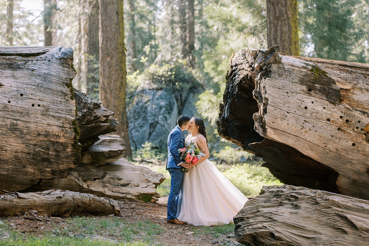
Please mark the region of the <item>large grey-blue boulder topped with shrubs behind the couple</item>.
<svg viewBox="0 0 369 246"><path fill-rule="evenodd" d="M145 142L166 148L168 134L177 125L177 118L196 115L194 104L204 89L190 72L183 69L170 66L161 76L154 72L142 75L144 83L140 84L127 107L133 149L141 148ZM183 77L183 73L187 76Z"/></svg>

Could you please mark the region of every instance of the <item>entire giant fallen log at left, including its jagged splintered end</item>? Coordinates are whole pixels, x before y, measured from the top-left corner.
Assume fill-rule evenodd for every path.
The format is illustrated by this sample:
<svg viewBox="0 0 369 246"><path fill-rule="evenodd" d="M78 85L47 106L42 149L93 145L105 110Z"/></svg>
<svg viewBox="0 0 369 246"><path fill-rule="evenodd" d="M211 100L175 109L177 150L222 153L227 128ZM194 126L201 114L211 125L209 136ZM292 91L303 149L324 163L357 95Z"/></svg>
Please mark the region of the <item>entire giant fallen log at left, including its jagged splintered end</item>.
<svg viewBox="0 0 369 246"><path fill-rule="evenodd" d="M0 193L158 200L164 176L121 159L123 140L103 135L117 129L114 112L73 90L72 62L71 48L0 47Z"/></svg>

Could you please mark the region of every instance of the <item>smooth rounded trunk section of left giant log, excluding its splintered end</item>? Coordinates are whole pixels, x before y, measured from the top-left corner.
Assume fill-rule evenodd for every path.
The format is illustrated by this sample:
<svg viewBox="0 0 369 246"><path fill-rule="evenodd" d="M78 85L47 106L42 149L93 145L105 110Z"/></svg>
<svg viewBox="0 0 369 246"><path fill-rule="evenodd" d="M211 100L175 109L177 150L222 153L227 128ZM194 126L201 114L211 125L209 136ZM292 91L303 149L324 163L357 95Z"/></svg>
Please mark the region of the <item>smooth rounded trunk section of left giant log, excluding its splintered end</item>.
<svg viewBox="0 0 369 246"><path fill-rule="evenodd" d="M64 177L78 164L72 62L72 48L0 47L0 190Z"/></svg>

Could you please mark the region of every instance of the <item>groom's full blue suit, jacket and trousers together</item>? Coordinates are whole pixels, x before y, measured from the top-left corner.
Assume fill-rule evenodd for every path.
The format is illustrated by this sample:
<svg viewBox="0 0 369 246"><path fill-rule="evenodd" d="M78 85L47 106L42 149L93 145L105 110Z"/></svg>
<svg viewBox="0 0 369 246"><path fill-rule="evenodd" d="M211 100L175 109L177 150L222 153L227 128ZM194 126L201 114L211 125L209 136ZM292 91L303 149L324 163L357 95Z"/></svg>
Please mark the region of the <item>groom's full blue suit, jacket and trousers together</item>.
<svg viewBox="0 0 369 246"><path fill-rule="evenodd" d="M168 160L166 170L170 173L170 193L168 197L167 219L176 219L179 191L182 186L183 167L178 166L182 160L179 158L178 149L184 147L184 135L178 126L173 128L168 136Z"/></svg>

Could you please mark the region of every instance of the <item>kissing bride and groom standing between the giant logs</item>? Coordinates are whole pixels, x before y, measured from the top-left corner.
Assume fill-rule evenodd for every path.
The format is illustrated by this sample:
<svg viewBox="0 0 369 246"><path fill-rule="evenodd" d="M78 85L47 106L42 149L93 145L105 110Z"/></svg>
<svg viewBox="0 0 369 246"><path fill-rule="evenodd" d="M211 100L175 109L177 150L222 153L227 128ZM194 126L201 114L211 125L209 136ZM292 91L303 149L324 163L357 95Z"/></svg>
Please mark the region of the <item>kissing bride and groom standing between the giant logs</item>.
<svg viewBox="0 0 369 246"><path fill-rule="evenodd" d="M183 131L189 135L184 138ZM196 164L181 159L186 146L198 148ZM194 152L192 152L194 153ZM206 129L201 118L181 115L168 136L170 173L167 222L210 226L229 224L248 199L208 160ZM184 173L182 169L188 169Z"/></svg>

